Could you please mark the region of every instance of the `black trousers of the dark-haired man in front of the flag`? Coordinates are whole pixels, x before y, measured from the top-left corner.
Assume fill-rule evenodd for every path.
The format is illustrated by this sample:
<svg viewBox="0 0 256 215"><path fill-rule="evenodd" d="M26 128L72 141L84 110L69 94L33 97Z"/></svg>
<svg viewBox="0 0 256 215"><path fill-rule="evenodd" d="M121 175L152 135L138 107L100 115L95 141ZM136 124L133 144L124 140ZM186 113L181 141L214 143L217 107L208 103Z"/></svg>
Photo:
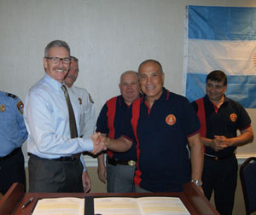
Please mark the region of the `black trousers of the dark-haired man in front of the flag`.
<svg viewBox="0 0 256 215"><path fill-rule="evenodd" d="M222 160L205 156L202 175L203 189L208 200L214 190L214 201L221 215L231 215L237 183L237 160L235 154Z"/></svg>

